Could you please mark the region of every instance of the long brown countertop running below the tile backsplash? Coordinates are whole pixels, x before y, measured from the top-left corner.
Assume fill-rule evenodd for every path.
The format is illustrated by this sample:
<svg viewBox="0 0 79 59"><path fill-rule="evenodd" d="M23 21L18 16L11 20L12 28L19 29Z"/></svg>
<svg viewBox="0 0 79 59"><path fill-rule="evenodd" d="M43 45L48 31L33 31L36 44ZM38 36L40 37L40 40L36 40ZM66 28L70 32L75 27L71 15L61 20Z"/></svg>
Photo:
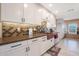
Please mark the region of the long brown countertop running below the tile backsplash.
<svg viewBox="0 0 79 59"><path fill-rule="evenodd" d="M38 33L38 34L33 34L32 36L29 36L29 35L21 36L20 35L20 36L16 36L16 37L5 37L3 39L0 38L0 45L29 40L29 39L33 39L33 38L37 38L37 37L41 37L41 36L46 36L46 34Z"/></svg>

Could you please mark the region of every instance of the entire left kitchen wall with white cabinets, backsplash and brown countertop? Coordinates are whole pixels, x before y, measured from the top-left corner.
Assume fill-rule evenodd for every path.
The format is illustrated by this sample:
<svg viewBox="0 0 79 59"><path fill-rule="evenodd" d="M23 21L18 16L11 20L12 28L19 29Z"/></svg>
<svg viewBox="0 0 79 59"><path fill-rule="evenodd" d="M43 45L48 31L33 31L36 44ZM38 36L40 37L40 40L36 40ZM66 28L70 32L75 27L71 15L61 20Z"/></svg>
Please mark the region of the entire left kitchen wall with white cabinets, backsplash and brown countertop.
<svg viewBox="0 0 79 59"><path fill-rule="evenodd" d="M2 56L41 56L64 37L56 31L55 15L43 4L1 3L0 10Z"/></svg>

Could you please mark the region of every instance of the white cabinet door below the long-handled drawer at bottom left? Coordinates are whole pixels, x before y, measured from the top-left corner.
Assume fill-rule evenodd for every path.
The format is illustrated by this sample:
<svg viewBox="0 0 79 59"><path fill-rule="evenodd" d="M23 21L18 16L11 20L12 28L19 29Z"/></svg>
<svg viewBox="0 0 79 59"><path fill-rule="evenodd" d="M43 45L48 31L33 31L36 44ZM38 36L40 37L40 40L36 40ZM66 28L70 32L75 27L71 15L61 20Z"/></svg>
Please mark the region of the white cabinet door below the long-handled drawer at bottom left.
<svg viewBox="0 0 79 59"><path fill-rule="evenodd" d="M5 55L7 55L7 56L25 56L25 55L27 55L26 47L20 47L20 48L17 48L17 49L7 51L5 53Z"/></svg>

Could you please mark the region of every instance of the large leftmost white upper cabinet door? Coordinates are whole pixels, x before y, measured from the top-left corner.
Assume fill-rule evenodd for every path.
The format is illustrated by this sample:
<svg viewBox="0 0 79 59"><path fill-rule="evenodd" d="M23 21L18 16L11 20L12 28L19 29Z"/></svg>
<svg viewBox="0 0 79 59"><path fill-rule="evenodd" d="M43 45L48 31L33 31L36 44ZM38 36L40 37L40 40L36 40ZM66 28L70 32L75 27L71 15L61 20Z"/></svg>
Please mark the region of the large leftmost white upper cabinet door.
<svg viewBox="0 0 79 59"><path fill-rule="evenodd" d="M3 21L11 21L11 22L21 22L21 18L23 17L23 4L22 3L4 3L2 4L5 8L4 13L5 19Z"/></svg>

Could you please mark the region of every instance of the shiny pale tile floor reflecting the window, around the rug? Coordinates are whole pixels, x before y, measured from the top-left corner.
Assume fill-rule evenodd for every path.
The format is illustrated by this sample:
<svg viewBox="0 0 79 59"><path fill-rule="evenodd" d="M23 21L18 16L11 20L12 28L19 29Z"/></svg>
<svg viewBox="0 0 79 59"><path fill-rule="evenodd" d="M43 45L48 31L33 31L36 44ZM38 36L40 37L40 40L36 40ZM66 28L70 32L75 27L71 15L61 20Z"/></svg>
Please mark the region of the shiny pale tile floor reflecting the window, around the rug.
<svg viewBox="0 0 79 59"><path fill-rule="evenodd" d="M65 38L57 45L61 50L58 56L79 56L79 40ZM45 53L44 56L50 56Z"/></svg>

